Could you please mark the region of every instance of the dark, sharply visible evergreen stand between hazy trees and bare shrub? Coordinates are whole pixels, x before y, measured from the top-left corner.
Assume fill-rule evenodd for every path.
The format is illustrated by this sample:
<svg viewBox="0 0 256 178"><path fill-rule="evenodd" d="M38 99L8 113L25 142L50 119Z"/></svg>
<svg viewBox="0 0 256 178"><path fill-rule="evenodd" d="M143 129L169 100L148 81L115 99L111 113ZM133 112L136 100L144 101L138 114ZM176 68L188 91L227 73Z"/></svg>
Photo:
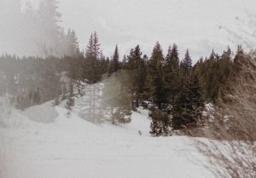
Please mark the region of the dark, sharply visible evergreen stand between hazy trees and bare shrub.
<svg viewBox="0 0 256 178"><path fill-rule="evenodd" d="M122 62L117 62L115 56L118 55L113 55L108 73L116 68L128 70L132 108L145 106L150 109L151 135L171 135L173 130L204 124L205 103L215 103L221 97L220 91L230 73L239 66L236 60L242 53L239 47L234 62L230 49L223 55L212 51L208 58L193 66L189 50L180 58L177 45L173 44L164 56L160 43L156 43L149 58L143 55L139 46L131 49ZM117 48L114 54L118 54Z"/></svg>

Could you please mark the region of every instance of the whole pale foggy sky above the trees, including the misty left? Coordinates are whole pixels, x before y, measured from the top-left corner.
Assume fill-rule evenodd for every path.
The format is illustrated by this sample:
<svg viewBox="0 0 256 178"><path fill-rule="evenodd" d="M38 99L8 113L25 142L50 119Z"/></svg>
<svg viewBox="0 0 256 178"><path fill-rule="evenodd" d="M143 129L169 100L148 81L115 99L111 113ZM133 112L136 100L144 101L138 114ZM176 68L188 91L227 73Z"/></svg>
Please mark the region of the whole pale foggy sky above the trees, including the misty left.
<svg viewBox="0 0 256 178"><path fill-rule="evenodd" d="M33 9L40 0L31 0ZM42 2L47 2L44 0ZM247 20L247 12L256 8L254 0L60 0L62 14L59 26L67 32L73 28L79 37L80 49L88 43L91 32L98 32L105 55L112 55L116 43L120 55L129 53L138 43L151 54L154 43L163 49L177 43L180 54L189 49L193 60L209 55L212 49L221 53L228 45L236 50L240 41L226 31L238 31L237 18ZM19 0L0 2L0 53L17 55L65 54L66 47L57 43L49 16L32 18L31 9ZM24 10L26 9L26 10ZM47 12L47 11L46 11ZM41 12L44 14L44 12ZM48 14L45 13L45 14Z"/></svg>

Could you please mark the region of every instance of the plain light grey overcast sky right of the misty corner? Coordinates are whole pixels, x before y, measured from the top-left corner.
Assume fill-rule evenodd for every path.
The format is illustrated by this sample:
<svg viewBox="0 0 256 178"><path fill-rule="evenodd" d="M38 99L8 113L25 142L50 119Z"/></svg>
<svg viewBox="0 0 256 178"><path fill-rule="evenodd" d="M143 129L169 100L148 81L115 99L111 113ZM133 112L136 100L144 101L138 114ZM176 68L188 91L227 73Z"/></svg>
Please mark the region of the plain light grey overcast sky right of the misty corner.
<svg viewBox="0 0 256 178"><path fill-rule="evenodd" d="M165 53L170 44L177 43L181 58L184 51L189 49L194 61L200 56L209 55L212 49L219 54L228 45L234 49L235 44L230 42L229 34L220 26L238 31L241 25L236 19L247 20L247 12L256 9L256 0L59 2L62 26L77 32L81 49L85 48L90 33L96 31L104 55L112 55L115 44L119 45L120 55L128 54L131 48L140 44L143 53L149 56L154 43L160 41Z"/></svg>

